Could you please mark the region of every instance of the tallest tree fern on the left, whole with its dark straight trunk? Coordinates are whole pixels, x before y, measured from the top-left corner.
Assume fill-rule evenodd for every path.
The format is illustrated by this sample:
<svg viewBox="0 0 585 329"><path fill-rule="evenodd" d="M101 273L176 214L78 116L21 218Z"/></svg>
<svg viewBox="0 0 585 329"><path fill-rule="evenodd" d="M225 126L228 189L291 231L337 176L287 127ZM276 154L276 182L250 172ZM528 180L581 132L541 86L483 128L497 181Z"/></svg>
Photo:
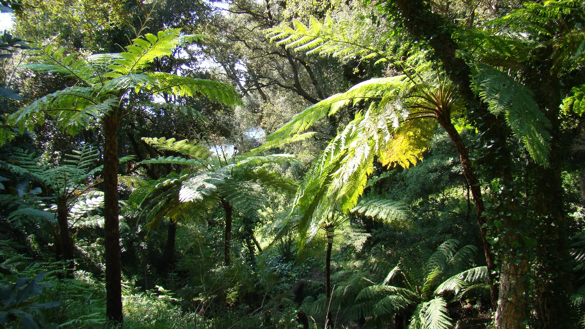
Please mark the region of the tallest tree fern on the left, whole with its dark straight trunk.
<svg viewBox="0 0 585 329"><path fill-rule="evenodd" d="M63 48L48 46L31 70L60 73L75 81L71 87L46 95L20 109L9 118L20 132L43 124L46 115L57 120L59 128L75 135L85 127L96 127L104 135L104 217L106 254L106 306L108 318L122 322L122 286L118 209L118 128L126 117L147 111L153 97L201 95L211 101L233 106L240 104L235 89L225 83L152 71L152 63L171 56L176 47L200 36L181 36L168 29L157 35L147 33L132 40L126 52L115 54L67 54ZM97 128L97 127L96 127Z"/></svg>

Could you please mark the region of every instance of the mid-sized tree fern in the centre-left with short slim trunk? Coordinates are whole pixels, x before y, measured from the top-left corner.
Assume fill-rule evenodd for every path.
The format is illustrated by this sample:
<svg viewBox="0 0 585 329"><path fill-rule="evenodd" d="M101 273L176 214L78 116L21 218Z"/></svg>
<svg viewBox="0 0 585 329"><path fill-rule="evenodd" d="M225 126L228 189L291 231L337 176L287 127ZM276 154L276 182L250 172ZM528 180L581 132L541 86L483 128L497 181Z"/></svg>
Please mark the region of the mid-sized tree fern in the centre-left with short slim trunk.
<svg viewBox="0 0 585 329"><path fill-rule="evenodd" d="M253 156L252 153L232 159L212 156L202 145L189 140L143 138L153 148L180 156L148 159L141 164L165 163L185 168L159 180L151 180L136 189L129 198L129 207L139 210L152 225L153 221L173 217L188 204L218 202L226 211L226 265L229 265L230 226L232 211L244 218L255 218L267 203L266 189L294 191L294 183L275 172L263 169L270 163L290 162L291 155ZM229 232L228 232L229 231Z"/></svg>

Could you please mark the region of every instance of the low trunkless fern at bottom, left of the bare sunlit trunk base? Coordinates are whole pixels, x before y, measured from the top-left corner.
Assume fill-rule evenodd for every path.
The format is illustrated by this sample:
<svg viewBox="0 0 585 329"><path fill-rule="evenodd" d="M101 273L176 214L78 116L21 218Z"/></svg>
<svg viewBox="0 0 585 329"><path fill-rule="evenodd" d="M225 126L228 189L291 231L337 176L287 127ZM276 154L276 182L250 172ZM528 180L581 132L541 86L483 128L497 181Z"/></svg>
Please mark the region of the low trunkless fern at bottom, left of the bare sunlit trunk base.
<svg viewBox="0 0 585 329"><path fill-rule="evenodd" d="M356 303L373 303L371 315L375 318L403 313L416 305L409 328L452 328L446 307L448 297L458 298L487 281L485 266L460 272L461 268L469 268L470 251L474 252L477 248L464 246L457 250L458 244L459 241L450 239L439 245L430 256L425 257L425 252L422 252L422 260L425 261L422 268L421 264L412 268L412 265L407 265L409 260L403 259L378 285L364 287L357 295ZM417 275L415 272L418 271L425 275ZM450 273L456 274L450 276ZM487 287L485 283L483 286Z"/></svg>

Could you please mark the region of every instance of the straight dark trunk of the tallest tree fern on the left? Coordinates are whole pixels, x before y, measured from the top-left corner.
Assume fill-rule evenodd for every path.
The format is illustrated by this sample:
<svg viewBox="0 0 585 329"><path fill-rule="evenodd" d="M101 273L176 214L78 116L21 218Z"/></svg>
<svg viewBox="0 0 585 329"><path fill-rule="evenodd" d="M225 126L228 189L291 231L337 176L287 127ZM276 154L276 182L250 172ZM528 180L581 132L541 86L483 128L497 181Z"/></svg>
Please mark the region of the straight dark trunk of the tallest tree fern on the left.
<svg viewBox="0 0 585 329"><path fill-rule="evenodd" d="M115 114L104 118L104 220L106 258L106 315L122 323L122 269L118 221L118 125Z"/></svg>

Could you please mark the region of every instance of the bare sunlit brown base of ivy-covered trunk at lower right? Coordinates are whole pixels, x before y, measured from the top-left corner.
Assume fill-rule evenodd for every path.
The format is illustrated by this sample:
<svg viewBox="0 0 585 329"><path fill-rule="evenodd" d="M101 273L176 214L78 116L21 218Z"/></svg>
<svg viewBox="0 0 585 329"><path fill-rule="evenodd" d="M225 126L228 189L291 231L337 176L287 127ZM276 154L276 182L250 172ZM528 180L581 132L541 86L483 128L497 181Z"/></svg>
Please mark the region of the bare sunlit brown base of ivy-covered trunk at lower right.
<svg viewBox="0 0 585 329"><path fill-rule="evenodd" d="M516 265L509 259L500 270L500 296L495 311L495 327L498 329L526 328L522 323L525 314L526 285L523 276L528 265L522 261Z"/></svg>

